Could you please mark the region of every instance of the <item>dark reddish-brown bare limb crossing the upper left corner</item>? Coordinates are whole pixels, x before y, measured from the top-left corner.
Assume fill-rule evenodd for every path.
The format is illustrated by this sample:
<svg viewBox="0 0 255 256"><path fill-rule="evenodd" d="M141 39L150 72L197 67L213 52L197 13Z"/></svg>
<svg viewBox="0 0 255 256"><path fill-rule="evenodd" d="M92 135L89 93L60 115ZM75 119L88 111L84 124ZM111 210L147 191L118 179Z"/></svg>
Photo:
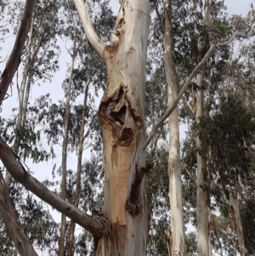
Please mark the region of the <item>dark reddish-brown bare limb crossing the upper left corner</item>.
<svg viewBox="0 0 255 256"><path fill-rule="evenodd" d="M35 9L37 1L36 0L26 0L26 5L20 24L20 29L18 31L16 41L14 43L14 48L8 58L6 67L3 71L1 82L0 82L0 105L3 102L5 94L8 90L9 84L12 82L14 73L20 65L20 57L26 43L26 37L28 30L31 26L31 18L33 11Z"/></svg>

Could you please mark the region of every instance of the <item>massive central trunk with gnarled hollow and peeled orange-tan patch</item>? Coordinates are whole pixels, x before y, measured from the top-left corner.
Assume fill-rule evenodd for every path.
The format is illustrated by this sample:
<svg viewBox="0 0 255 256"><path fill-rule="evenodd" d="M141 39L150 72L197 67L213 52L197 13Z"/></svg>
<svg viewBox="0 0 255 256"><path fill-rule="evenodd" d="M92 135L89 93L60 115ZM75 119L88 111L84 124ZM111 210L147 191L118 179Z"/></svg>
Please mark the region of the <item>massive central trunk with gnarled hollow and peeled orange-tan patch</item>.
<svg viewBox="0 0 255 256"><path fill-rule="evenodd" d="M119 43L105 47L108 83L99 105L105 157L104 214L110 236L96 255L145 255L144 84L150 3L122 1Z"/></svg>

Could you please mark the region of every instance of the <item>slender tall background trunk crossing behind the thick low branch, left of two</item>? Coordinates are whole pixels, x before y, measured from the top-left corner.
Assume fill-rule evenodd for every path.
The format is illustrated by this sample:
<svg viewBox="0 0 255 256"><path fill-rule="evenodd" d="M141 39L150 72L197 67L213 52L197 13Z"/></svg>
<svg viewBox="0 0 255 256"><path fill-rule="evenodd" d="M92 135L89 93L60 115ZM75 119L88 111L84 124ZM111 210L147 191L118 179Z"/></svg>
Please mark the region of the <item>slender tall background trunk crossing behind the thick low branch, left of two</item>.
<svg viewBox="0 0 255 256"><path fill-rule="evenodd" d="M62 182L61 182L61 196L66 200L66 157L67 157L67 142L68 142L68 126L69 126L69 117L70 117L70 98L71 98L71 82L73 76L73 68L75 59L77 57L77 32L76 26L73 26L74 29L74 42L73 42L73 54L71 57L71 66L69 81L66 92L66 101L65 101L65 130L64 130L64 140L62 145ZM61 214L61 228L60 228L60 240L59 240L59 256L65 255L65 226L66 226L66 216Z"/></svg>

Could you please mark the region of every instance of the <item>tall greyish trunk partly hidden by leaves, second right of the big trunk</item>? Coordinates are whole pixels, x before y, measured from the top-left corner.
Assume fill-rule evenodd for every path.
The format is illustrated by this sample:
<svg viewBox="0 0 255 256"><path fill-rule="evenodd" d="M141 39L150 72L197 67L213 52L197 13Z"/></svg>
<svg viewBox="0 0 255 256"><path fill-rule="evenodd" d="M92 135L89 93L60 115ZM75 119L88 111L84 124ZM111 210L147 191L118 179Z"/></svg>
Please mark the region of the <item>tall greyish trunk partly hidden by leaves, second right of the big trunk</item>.
<svg viewBox="0 0 255 256"><path fill-rule="evenodd" d="M210 20L210 0L205 1L205 18L204 18L205 31L203 36L198 39L198 58L202 59L206 45L207 27ZM201 71L197 76L197 93L196 93L196 113L195 122L198 130L200 131L200 120L204 115L204 90L203 79L205 75L205 67L201 67ZM208 202L207 202L207 187L205 179L207 178L207 165L204 157L203 144L200 136L196 138L196 159L197 159L197 177L196 184L198 189L196 191L196 222L198 234L198 256L207 256L210 252L209 249L209 222L208 222Z"/></svg>

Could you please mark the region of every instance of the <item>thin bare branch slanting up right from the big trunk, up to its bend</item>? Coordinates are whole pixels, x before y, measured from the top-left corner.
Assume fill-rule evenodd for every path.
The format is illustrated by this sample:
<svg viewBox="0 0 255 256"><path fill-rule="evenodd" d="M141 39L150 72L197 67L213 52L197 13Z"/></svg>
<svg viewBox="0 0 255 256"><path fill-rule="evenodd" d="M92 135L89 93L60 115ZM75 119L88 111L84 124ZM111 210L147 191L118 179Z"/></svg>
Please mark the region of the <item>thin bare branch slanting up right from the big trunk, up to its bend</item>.
<svg viewBox="0 0 255 256"><path fill-rule="evenodd" d="M151 129L150 135L148 137L148 139L145 140L144 145L143 145L143 149L145 150L145 148L147 147L147 145L150 144L151 139L154 137L154 135L156 134L156 131L158 128L161 127L161 125L163 124L163 122L166 121L167 117L169 117L173 111L175 110L175 108L178 105L179 100L181 100L184 92L186 91L186 89L188 88L191 80L195 77L195 75L198 73L198 71L200 71L201 66L204 65L207 61L207 59L210 57L210 55L212 54L212 52L214 51L214 49L216 48L216 44L212 43L211 47L208 49L207 54L205 54L204 58L201 60L201 62L196 65L194 71L191 72L190 77L188 77L187 81L184 83L183 88L181 88L181 90L178 93L178 97L177 99L173 102L173 105L168 109L168 111L163 115L163 117L161 117L161 119L156 123L156 125Z"/></svg>

